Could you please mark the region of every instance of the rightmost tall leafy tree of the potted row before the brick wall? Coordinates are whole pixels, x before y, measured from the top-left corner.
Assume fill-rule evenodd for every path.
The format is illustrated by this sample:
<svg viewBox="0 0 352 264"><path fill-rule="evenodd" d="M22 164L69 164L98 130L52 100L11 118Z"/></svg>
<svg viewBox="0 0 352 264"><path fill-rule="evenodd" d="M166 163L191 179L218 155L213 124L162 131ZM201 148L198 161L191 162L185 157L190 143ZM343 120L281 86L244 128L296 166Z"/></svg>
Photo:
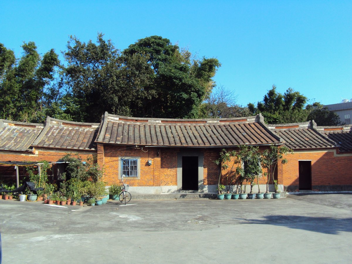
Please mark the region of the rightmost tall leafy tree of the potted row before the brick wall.
<svg viewBox="0 0 352 264"><path fill-rule="evenodd" d="M292 154L293 151L290 150L286 146L280 146L278 147L277 145L270 145L269 149L264 150L262 154L262 159L261 159L261 164L263 169L266 169L267 171L264 172L264 176L267 178L266 180L266 192L264 194L264 198L270 199L271 198L271 193L269 192L269 182L270 178L274 181L274 175L275 175L275 170L276 166L279 160L281 160L281 164L286 164L288 161L286 158L283 158L284 155ZM274 181L275 184L275 181ZM275 184L277 186L277 183ZM278 191L278 186L277 190ZM276 193L275 191L275 193Z"/></svg>

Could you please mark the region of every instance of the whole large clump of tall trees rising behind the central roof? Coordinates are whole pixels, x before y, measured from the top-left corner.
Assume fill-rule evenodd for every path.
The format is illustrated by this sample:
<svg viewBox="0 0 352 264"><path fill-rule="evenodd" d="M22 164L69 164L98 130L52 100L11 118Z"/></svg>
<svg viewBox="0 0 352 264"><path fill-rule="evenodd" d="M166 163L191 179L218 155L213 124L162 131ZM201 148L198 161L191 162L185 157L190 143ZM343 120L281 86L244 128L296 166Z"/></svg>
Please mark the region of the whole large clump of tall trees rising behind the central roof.
<svg viewBox="0 0 352 264"><path fill-rule="evenodd" d="M122 53L103 34L96 44L70 37L64 57L68 94L62 108L74 120L87 122L99 121L105 111L196 118L220 66L215 58L191 60L188 51L159 36L140 39Z"/></svg>

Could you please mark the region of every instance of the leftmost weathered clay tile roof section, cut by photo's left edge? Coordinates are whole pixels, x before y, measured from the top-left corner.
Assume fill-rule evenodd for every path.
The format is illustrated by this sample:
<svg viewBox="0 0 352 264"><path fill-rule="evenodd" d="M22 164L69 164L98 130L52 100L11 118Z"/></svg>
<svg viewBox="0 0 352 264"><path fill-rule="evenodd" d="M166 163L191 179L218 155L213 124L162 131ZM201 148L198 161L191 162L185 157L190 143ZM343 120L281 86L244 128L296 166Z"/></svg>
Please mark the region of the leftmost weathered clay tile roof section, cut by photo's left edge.
<svg viewBox="0 0 352 264"><path fill-rule="evenodd" d="M0 150L31 151L31 145L43 127L43 124L0 119Z"/></svg>

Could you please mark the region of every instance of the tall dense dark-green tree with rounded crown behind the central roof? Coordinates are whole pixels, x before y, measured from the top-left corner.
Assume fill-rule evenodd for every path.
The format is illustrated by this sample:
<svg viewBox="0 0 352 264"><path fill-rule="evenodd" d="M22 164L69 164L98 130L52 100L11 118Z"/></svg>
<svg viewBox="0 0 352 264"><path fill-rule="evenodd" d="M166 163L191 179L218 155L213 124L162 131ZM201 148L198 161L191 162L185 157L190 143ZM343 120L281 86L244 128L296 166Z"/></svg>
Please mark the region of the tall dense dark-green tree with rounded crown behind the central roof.
<svg viewBox="0 0 352 264"><path fill-rule="evenodd" d="M152 69L151 82L144 89L150 97L143 101L139 116L196 118L202 101L209 95L212 77L220 67L218 59L191 58L187 50L172 45L169 39L151 36L139 39L123 51L125 56L141 54Z"/></svg>

